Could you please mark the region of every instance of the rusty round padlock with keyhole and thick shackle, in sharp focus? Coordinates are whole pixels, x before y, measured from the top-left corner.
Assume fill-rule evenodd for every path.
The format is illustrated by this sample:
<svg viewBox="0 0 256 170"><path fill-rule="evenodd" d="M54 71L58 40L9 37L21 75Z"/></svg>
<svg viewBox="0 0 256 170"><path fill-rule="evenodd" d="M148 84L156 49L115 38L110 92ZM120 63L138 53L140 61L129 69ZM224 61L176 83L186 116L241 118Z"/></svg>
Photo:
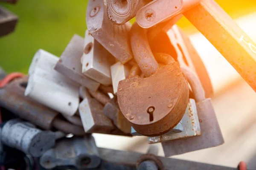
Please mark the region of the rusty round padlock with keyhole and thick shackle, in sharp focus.
<svg viewBox="0 0 256 170"><path fill-rule="evenodd" d="M138 66L128 79L119 82L119 108L132 127L145 136L159 136L175 127L183 117L189 100L189 86L180 65L169 54L153 54L147 30L134 23L131 47ZM139 77L140 71L144 76Z"/></svg>

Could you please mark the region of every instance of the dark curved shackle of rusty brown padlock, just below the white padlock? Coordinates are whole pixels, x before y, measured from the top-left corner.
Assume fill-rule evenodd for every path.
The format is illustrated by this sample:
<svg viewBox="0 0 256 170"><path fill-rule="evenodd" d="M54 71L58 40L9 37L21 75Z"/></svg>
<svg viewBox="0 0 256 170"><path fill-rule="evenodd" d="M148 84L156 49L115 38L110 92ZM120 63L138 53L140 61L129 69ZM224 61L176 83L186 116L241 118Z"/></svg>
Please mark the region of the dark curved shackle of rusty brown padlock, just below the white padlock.
<svg viewBox="0 0 256 170"><path fill-rule="evenodd" d="M54 121L52 122L52 125L56 129L67 134L72 133L73 135L76 135L76 136L84 136L86 134L82 127L73 125L70 122L67 122L62 119L58 119L58 118L54 119Z"/></svg>

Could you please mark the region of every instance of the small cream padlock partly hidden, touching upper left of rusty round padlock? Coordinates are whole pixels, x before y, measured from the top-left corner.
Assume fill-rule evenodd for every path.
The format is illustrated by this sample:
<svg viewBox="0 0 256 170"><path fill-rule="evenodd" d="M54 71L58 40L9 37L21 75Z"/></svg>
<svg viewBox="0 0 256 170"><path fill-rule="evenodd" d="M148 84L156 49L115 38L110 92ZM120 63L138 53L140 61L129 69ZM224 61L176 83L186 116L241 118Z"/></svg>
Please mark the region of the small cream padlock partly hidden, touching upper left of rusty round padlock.
<svg viewBox="0 0 256 170"><path fill-rule="evenodd" d="M114 65L111 65L111 79L113 84L113 92L117 94L118 83L129 77L131 67L128 64L123 65L121 62L116 62Z"/></svg>

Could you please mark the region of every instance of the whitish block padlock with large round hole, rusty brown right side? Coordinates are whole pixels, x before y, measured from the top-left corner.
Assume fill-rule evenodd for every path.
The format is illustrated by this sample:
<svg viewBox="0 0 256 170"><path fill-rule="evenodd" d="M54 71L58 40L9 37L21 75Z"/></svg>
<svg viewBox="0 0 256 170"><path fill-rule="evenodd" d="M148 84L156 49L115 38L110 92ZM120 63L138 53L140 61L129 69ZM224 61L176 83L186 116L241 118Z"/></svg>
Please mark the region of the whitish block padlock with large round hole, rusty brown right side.
<svg viewBox="0 0 256 170"><path fill-rule="evenodd" d="M84 53L81 60L84 75L103 85L111 85L110 66L115 59L88 30L85 31Z"/></svg>

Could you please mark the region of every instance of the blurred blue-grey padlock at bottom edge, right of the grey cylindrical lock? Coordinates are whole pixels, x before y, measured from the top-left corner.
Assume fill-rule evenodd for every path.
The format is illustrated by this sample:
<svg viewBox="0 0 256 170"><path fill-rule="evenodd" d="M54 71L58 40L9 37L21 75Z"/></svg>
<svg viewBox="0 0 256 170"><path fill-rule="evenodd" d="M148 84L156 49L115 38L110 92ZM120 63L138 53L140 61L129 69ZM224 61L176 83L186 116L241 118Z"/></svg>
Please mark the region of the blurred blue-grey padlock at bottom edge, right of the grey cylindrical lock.
<svg viewBox="0 0 256 170"><path fill-rule="evenodd" d="M91 135L62 139L40 158L41 166L47 169L64 165L90 169L98 167L100 163L98 148Z"/></svg>

